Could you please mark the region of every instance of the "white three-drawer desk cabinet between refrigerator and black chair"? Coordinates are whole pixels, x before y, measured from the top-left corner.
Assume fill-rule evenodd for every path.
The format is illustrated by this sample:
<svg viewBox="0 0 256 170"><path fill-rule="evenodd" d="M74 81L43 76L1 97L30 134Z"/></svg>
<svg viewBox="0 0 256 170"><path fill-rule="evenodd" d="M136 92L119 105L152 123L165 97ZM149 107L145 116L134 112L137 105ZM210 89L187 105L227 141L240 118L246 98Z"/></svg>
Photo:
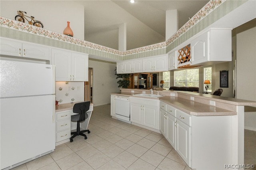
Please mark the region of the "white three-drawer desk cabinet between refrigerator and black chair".
<svg viewBox="0 0 256 170"><path fill-rule="evenodd" d="M56 143L70 138L72 110L56 112Z"/></svg>

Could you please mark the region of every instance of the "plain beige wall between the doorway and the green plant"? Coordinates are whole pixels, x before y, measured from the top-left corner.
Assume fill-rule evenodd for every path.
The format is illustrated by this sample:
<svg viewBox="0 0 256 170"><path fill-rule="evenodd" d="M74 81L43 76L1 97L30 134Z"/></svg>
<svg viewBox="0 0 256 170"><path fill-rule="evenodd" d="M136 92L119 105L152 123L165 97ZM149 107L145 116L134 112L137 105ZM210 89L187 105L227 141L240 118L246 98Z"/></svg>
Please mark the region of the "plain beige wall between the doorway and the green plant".
<svg viewBox="0 0 256 170"><path fill-rule="evenodd" d="M94 106L110 103L110 94L120 92L116 83L116 63L107 63L89 59L89 67L93 69L92 102Z"/></svg>

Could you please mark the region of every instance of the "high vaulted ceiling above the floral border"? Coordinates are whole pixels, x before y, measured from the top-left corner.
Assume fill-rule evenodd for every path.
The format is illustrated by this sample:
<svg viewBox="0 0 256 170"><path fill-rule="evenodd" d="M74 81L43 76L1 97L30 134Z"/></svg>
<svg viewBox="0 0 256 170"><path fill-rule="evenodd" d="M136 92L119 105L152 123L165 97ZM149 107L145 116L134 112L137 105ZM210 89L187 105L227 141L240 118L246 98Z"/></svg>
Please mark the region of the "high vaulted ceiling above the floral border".
<svg viewBox="0 0 256 170"><path fill-rule="evenodd" d="M126 23L126 49L165 41L166 10L178 10L178 28L209 0L78 0L84 6L85 40L118 49L118 27Z"/></svg>

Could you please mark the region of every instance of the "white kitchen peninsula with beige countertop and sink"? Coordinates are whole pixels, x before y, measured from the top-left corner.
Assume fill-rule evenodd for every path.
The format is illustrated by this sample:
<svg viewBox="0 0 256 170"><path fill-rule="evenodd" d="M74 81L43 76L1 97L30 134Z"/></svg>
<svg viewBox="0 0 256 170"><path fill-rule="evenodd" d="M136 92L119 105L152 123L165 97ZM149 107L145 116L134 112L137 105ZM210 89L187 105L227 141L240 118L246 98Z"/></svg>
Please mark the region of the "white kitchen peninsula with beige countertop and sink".
<svg viewBox="0 0 256 170"><path fill-rule="evenodd" d="M255 107L255 101L168 90L154 90L153 94L164 95L158 98L134 95L139 93L150 91L121 89L111 97L129 97L130 122L161 132L190 168L224 169L225 165L244 164L244 106ZM155 112L144 107L143 103L151 101L157 103ZM114 100L111 102L113 105ZM114 117L114 107L111 109ZM147 127L148 120L150 125L156 124L154 129Z"/></svg>

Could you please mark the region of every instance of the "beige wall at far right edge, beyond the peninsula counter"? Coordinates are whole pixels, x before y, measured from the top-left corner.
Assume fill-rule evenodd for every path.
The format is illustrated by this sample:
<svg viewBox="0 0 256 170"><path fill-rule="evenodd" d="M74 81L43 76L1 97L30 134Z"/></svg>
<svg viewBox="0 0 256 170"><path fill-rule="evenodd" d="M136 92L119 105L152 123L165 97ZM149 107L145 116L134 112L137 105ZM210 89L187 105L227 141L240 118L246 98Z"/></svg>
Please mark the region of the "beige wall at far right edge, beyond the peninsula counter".
<svg viewBox="0 0 256 170"><path fill-rule="evenodd" d="M256 101L256 20L243 28L236 35L236 98ZM244 118L245 128L256 131L256 107L245 107Z"/></svg>

